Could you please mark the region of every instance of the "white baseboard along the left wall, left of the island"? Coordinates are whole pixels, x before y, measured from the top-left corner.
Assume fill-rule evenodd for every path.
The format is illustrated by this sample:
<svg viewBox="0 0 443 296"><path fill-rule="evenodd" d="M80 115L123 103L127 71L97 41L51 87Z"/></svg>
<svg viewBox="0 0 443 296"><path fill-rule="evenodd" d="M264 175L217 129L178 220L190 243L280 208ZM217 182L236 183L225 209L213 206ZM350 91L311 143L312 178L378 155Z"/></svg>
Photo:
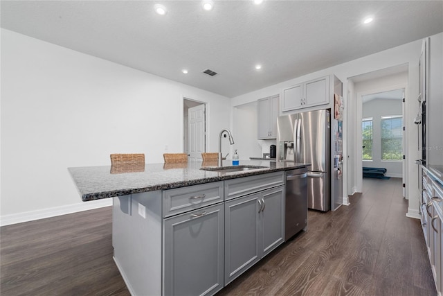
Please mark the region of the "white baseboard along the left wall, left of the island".
<svg viewBox="0 0 443 296"><path fill-rule="evenodd" d="M78 211L87 211L89 209L98 209L100 207L109 207L111 205L112 198L104 198L102 200L91 200L90 202L81 202L78 204L67 204L60 207L39 209L37 211L25 211L23 213L0 216L0 226L72 214Z"/></svg>

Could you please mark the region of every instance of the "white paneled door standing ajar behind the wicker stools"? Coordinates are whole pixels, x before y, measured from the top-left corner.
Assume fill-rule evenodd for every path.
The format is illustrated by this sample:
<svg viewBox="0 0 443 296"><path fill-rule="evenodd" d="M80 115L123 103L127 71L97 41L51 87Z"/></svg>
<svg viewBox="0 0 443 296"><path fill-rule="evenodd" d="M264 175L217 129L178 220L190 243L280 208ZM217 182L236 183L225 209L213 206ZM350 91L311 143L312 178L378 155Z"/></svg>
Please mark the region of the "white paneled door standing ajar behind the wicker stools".
<svg viewBox="0 0 443 296"><path fill-rule="evenodd" d="M201 153L205 152L205 114L204 104L188 109L190 160L201 160Z"/></svg>

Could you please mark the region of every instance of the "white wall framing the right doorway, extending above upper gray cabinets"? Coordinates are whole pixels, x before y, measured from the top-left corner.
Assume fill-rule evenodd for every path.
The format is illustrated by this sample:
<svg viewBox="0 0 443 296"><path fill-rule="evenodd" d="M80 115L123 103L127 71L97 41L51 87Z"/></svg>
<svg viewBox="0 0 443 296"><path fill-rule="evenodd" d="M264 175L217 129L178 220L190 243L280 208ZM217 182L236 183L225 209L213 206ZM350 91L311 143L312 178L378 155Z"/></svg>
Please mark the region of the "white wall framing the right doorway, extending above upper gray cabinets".
<svg viewBox="0 0 443 296"><path fill-rule="evenodd" d="M439 35L442 35L440 33ZM277 85L272 85L270 87L266 87L263 89L258 89L255 92L250 92L248 94L243 94L241 96L237 96L232 98L231 105L233 107L237 105L242 105L245 103L250 103L252 101L256 101L259 98L264 98L266 96L272 96L273 94L280 94L281 90L285 87L290 87L291 85L296 85L297 83L307 81L310 79L318 78L321 76L335 74L338 79L343 82L343 98L345 101L345 112L346 116L343 120L343 124L345 125L345 129L343 132L343 141L344 143L348 143L347 139L353 139L354 134L347 134L349 130L347 130L347 125L356 125L355 113L354 110L348 109L348 97L347 97L347 78L352 78L354 76L361 75L363 73L369 73L372 71L377 71L379 69L385 69L388 67L394 67L401 64L408 64L408 87L406 89L406 93L408 94L408 98L410 100L406 101L406 114L404 120L406 121L406 131L408 132L408 136L406 139L407 150L406 150L406 161L408 162L408 167L406 171L406 197L413 196L414 198L409 199L409 207L407 216L419 218L418 214L418 202L417 198L419 196L418 186L417 186L417 166L414 164L414 160L417 159L417 150L413 149L417 147L417 127L414 126L413 118L417 114L417 106L416 100L413 98L417 98L418 96L418 60L419 53L422 46L422 40L417 40L415 42L410 42L408 44L404 44L401 46L397 46L392 49L388 49L386 51L381 51L379 53L374 53L372 55L365 56L363 58L359 58L357 60L352 60L350 62L346 62L343 64L338 64L337 66L330 67L327 69L323 69L320 71L316 71L313 73L309 73L305 76L300 76L298 78L293 78L291 80L287 80L285 82L281 82ZM350 104L352 105L352 104ZM352 131L352 130L351 130ZM343 167L347 166L347 160L350 157L355 157L355 154L352 151L348 151L349 148L352 148L352 145L347 147L343 147L343 155L344 164ZM350 159L350 161L355 161L355 159ZM352 166L351 166L352 167ZM349 172L348 172L349 171ZM349 181L347 176L348 174L354 175L354 170L349 169L343 172L343 189L353 188L354 184L347 184ZM352 180L352 178L350 178ZM352 180L352 182L356 182L356 180ZM348 192L349 193L349 192ZM346 193L343 194L344 196ZM346 203L345 201L343 202Z"/></svg>

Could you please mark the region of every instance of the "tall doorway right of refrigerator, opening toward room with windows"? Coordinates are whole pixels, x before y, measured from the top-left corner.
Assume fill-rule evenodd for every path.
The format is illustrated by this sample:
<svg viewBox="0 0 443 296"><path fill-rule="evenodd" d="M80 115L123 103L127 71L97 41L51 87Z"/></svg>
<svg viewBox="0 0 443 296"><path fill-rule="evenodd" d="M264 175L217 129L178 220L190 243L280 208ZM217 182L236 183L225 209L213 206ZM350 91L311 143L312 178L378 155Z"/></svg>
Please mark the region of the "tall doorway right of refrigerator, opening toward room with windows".
<svg viewBox="0 0 443 296"><path fill-rule="evenodd" d="M399 177L402 179L402 184L406 184L407 164L404 155L407 149L405 146L407 135L403 127L407 119L403 98L405 98L408 83L408 64L354 76L348 78L347 82L348 103L350 113L353 113L350 114L348 133L351 136L350 139L354 138L353 141L347 143L348 151L350 151L348 154L350 162L347 168L348 171L354 172L347 175L347 192L350 195L363 192L363 166L386 168L382 176ZM389 109L388 105L395 105L395 110ZM372 109L372 114L370 114L370 109ZM400 126L398 126L399 122L401 122ZM363 134L365 129L366 132ZM372 129L372 134L368 133L370 129ZM382 132L384 132L383 135ZM386 137L388 134L391 136L390 139ZM365 136L364 139L363 136ZM394 142L397 146L393 144ZM388 148L392 146L398 148L399 143L401 143L400 153L389 151ZM368 145L373 146L368 147ZM365 146L364 150L363 146ZM372 154L369 154L368 150L372 150ZM403 196L406 197L405 187L403 187Z"/></svg>

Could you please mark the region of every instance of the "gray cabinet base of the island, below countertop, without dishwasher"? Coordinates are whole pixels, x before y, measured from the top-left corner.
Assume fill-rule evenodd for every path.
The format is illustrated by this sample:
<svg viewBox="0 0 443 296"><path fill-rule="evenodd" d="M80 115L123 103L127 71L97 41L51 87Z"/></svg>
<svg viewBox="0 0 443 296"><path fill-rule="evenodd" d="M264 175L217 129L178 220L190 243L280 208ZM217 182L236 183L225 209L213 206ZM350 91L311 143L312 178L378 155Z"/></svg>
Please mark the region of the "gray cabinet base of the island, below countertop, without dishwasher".
<svg viewBox="0 0 443 296"><path fill-rule="evenodd" d="M284 241L284 171L114 198L132 295L215 295Z"/></svg>

